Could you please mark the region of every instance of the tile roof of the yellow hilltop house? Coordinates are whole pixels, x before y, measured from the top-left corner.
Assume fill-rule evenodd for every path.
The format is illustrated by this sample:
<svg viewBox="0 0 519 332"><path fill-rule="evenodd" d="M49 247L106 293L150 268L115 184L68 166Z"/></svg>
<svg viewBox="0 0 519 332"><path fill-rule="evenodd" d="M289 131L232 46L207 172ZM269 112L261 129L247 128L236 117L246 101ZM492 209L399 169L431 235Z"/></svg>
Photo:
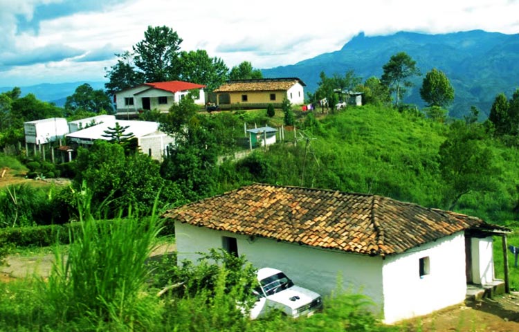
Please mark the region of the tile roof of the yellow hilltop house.
<svg viewBox="0 0 519 332"><path fill-rule="evenodd" d="M264 78L259 80L229 81L213 92L286 91L295 83L305 86L304 82L298 79L298 77Z"/></svg>

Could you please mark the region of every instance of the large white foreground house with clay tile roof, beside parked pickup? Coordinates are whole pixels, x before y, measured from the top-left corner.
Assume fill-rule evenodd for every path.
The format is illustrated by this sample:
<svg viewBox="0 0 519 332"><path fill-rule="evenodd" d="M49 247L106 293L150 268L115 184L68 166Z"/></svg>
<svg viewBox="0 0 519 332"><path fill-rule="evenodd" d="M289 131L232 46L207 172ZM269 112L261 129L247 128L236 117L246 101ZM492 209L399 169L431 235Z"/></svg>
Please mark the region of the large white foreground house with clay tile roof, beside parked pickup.
<svg viewBox="0 0 519 332"><path fill-rule="evenodd" d="M340 277L386 323L459 304L468 283L495 283L492 236L509 232L383 196L262 184L164 216L174 220L179 262L224 248L323 295Z"/></svg>

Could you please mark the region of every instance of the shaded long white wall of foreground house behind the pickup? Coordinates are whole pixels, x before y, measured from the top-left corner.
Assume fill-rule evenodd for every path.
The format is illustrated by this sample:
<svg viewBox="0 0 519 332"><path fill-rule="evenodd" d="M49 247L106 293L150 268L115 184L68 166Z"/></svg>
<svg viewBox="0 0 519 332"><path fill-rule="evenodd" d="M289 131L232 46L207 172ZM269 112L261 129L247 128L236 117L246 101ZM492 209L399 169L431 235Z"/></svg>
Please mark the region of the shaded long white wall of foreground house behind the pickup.
<svg viewBox="0 0 519 332"><path fill-rule="evenodd" d="M286 273L295 284L299 284L321 295L330 295L340 286L347 292L364 293L378 304L373 308L381 311L382 265L381 257L347 254L321 250L295 243L277 242L257 238L251 241L244 235L210 230L186 223L175 222L176 248L179 262L183 259L196 261L196 252L207 252L210 248L222 248L222 237L235 237L239 255L257 267L277 268Z"/></svg>

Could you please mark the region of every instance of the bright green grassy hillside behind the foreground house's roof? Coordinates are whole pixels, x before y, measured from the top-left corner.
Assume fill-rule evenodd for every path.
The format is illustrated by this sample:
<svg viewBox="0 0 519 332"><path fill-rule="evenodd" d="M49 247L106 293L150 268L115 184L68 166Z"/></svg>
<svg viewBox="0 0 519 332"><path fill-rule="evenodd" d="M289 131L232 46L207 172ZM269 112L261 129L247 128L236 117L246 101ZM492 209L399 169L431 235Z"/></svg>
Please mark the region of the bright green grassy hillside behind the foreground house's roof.
<svg viewBox="0 0 519 332"><path fill-rule="evenodd" d="M455 135L453 124L376 107L349 108L311 119L301 119L297 147L275 145L265 154L253 154L238 163L237 174L248 181L379 194L432 208L450 207L446 192L452 185L441 173L439 149ZM477 174L478 165L462 171L472 176L469 182L477 183L482 177L487 187L463 194L453 210L498 223L517 219L512 210L519 199L518 149L488 136L483 124L463 126L482 132L483 137L469 146L488 153L491 175ZM462 156L452 158L455 165L464 163Z"/></svg>

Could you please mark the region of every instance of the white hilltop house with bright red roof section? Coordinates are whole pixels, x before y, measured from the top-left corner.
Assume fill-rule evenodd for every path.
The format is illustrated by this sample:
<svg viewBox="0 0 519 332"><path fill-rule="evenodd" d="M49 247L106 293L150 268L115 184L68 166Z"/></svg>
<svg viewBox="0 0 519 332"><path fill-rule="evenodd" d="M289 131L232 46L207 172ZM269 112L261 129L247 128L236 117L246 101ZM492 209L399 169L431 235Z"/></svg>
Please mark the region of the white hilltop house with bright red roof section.
<svg viewBox="0 0 519 332"><path fill-rule="evenodd" d="M156 109L168 111L190 91L197 91L196 104L206 104L205 85L183 81L144 83L119 91L114 96L118 116L136 115L139 111Z"/></svg>

